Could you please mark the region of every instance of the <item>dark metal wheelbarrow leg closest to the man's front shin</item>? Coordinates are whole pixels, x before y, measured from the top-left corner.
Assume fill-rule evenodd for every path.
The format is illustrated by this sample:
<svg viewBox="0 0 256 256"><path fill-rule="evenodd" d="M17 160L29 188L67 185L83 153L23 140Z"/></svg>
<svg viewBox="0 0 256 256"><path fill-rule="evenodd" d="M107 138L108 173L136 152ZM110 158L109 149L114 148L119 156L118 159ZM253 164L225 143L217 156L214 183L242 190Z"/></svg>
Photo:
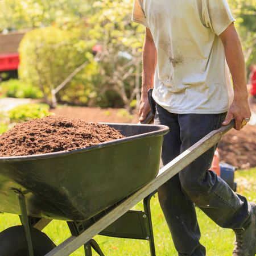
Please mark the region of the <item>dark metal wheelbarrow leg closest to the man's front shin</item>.
<svg viewBox="0 0 256 256"><path fill-rule="evenodd" d="M148 242L150 243L151 256L156 256L154 233L153 233L151 210L150 210L150 200L151 200L152 196L155 196L155 193L157 193L157 191L152 192L150 195L145 197L143 200L144 212L147 214L148 228L149 228L149 232L150 232L150 237L148 237Z"/></svg>

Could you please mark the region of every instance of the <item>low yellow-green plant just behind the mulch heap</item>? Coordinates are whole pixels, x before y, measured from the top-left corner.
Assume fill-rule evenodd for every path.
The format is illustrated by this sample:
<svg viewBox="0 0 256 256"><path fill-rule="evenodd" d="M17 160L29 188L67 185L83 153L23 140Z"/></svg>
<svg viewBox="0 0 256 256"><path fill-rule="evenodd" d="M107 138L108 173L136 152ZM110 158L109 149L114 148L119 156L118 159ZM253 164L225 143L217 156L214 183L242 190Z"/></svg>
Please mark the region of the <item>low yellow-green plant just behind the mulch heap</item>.
<svg viewBox="0 0 256 256"><path fill-rule="evenodd" d="M33 118L42 118L51 115L46 104L25 104L16 106L8 112L11 122L23 122Z"/></svg>

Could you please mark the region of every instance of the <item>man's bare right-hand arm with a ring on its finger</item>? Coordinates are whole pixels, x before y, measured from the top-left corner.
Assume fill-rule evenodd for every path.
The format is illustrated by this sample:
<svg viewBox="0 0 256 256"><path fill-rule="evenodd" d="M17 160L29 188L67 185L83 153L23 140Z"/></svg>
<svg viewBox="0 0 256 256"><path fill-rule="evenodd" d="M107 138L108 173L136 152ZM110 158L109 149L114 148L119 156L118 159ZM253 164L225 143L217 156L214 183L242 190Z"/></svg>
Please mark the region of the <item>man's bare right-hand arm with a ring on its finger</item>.
<svg viewBox="0 0 256 256"><path fill-rule="evenodd" d="M245 60L241 42L233 23L222 32L220 38L225 47L226 61L229 65L234 86L234 101L223 125L228 125L232 118L235 118L236 130L241 130L243 119L250 118L251 111L246 87Z"/></svg>

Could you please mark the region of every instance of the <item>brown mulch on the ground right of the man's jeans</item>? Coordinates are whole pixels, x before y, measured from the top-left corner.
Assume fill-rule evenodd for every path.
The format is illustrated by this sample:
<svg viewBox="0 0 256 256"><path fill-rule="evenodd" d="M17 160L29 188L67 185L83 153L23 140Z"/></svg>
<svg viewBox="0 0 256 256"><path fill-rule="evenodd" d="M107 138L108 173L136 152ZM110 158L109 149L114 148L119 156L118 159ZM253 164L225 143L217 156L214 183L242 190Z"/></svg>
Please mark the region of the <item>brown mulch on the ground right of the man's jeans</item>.
<svg viewBox="0 0 256 256"><path fill-rule="evenodd" d="M241 131L230 130L218 144L221 162L239 169L256 167L256 126L246 125Z"/></svg>

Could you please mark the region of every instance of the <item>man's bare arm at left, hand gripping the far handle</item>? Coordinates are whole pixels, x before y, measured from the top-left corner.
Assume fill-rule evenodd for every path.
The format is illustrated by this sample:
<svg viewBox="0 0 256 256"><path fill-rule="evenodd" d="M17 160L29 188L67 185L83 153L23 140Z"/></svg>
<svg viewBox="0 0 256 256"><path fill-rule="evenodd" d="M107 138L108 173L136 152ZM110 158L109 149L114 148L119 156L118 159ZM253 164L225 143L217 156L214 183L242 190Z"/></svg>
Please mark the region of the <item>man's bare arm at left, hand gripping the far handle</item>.
<svg viewBox="0 0 256 256"><path fill-rule="evenodd" d="M154 73L156 66L156 48L152 34L146 28L145 40L142 51L143 74L141 89L141 106L139 108L139 121L144 121L150 112L150 104L147 98L147 91L153 88Z"/></svg>

